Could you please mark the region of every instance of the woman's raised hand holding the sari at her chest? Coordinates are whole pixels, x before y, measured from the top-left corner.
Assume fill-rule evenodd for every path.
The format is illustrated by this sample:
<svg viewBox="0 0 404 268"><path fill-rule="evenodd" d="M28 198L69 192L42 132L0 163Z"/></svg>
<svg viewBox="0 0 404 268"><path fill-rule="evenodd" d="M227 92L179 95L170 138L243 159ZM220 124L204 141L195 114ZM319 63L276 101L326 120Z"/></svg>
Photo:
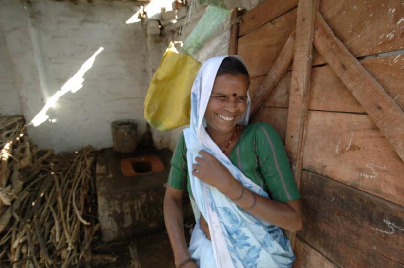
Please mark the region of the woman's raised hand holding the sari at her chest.
<svg viewBox="0 0 404 268"><path fill-rule="evenodd" d="M219 191L230 183L233 176L223 164L210 153L199 151L202 157L195 157L192 175L203 182L218 188Z"/></svg>

